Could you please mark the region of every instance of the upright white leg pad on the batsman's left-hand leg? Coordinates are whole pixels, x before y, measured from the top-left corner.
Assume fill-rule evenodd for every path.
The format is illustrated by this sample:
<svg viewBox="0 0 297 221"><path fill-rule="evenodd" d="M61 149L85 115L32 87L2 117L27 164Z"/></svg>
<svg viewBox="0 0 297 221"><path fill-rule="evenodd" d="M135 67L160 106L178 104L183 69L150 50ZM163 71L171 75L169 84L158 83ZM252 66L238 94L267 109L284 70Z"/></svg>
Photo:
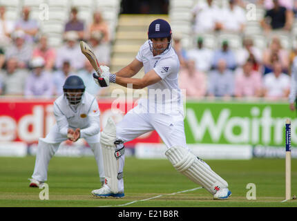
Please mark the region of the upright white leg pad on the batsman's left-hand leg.
<svg viewBox="0 0 297 221"><path fill-rule="evenodd" d="M118 193L118 180L122 179L122 173L119 173L119 157L124 155L125 149L124 145L121 148L117 148L117 144L122 144L122 141L116 140L115 137L115 122L110 117L101 133L100 143L104 161L105 184L111 188L113 193Z"/></svg>

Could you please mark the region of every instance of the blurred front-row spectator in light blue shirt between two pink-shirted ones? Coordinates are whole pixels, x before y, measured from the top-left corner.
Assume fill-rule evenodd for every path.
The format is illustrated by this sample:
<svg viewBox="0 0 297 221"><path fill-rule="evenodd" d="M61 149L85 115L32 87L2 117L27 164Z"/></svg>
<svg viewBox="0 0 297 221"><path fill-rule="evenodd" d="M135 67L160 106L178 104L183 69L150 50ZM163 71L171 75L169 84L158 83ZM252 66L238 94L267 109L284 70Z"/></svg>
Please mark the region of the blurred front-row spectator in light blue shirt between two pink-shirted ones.
<svg viewBox="0 0 297 221"><path fill-rule="evenodd" d="M231 97L233 92L233 72L227 69L224 59L219 59L218 68L209 73L208 95L210 97Z"/></svg>

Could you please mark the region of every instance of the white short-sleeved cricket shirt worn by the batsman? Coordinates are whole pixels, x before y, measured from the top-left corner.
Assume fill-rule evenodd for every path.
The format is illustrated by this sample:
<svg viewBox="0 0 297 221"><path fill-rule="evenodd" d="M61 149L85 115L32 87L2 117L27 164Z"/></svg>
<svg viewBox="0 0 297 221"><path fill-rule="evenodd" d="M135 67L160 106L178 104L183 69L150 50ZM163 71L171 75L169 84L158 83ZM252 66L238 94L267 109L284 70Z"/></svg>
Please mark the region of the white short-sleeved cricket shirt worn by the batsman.
<svg viewBox="0 0 297 221"><path fill-rule="evenodd" d="M182 95L178 86L178 71L180 61L175 50L171 47L161 55L153 56L148 40L140 47L136 59L144 65L144 74L150 70L162 79L155 84L149 85L148 98L141 99L139 104L149 107L150 113L182 110ZM146 103L146 104L145 104Z"/></svg>

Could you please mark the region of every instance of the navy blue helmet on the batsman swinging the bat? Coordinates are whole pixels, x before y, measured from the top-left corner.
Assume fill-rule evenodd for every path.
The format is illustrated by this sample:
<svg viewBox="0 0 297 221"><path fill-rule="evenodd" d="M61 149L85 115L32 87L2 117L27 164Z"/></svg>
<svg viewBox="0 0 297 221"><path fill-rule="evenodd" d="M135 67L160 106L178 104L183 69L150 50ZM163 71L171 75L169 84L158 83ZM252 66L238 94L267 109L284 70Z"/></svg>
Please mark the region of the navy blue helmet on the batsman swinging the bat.
<svg viewBox="0 0 297 221"><path fill-rule="evenodd" d="M164 19L155 19L148 27L148 39L157 37L171 38L171 27Z"/></svg>

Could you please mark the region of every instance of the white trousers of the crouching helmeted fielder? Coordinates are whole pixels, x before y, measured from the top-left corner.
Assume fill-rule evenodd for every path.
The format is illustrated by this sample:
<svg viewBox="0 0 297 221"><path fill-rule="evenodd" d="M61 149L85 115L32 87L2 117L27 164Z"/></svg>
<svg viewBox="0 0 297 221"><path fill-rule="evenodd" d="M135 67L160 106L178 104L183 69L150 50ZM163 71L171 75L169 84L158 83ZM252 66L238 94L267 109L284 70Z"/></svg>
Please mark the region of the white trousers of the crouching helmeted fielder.
<svg viewBox="0 0 297 221"><path fill-rule="evenodd" d="M62 137L59 133L57 125L53 126L46 138L39 138L37 155L35 160L35 168L32 178L44 182L48 179L48 164L53 155L57 152L61 142L67 140L67 137ZM86 138L86 142L92 149L95 160L97 162L100 181L104 182L104 164L102 157L102 148L99 143L99 135Z"/></svg>

